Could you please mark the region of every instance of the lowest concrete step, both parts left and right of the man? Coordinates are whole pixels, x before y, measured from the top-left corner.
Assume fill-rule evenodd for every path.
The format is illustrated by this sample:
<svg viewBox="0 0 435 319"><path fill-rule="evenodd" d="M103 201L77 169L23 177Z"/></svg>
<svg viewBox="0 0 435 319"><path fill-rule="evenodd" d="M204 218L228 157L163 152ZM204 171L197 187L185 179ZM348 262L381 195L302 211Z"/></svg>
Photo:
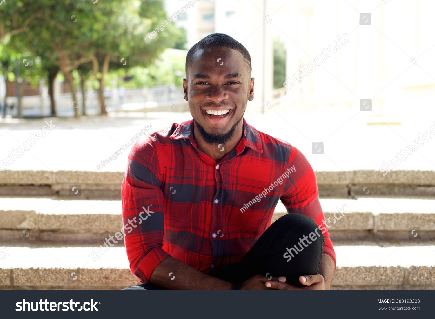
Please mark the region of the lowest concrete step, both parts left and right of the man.
<svg viewBox="0 0 435 319"><path fill-rule="evenodd" d="M106 252L100 247L1 247L0 289L122 289L138 284L125 248L103 248ZM435 289L435 246L368 243L338 245L335 251L332 289Z"/></svg>

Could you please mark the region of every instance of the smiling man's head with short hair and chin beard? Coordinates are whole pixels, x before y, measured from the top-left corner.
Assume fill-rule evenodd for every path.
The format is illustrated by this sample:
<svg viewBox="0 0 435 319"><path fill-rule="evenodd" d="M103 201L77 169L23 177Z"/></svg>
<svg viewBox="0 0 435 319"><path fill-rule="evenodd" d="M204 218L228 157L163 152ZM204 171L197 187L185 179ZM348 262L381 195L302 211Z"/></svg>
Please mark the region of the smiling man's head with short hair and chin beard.
<svg viewBox="0 0 435 319"><path fill-rule="evenodd" d="M187 53L183 86L195 129L206 143L225 144L241 130L248 100L254 99L251 56L232 37L210 34Z"/></svg>

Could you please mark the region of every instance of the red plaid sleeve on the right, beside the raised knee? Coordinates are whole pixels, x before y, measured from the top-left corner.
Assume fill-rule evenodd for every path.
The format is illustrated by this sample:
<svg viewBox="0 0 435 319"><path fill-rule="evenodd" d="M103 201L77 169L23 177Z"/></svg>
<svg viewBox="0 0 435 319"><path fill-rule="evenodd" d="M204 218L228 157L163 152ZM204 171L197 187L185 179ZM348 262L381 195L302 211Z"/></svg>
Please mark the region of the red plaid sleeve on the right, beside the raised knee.
<svg viewBox="0 0 435 319"><path fill-rule="evenodd" d="M289 167L293 167L294 172L286 181L286 192L281 197L281 202L287 208L288 213L303 214L315 220L325 237L323 253L334 260L336 267L334 246L329 238L328 228L324 224L325 216L319 201L314 170L305 156L294 147L291 149Z"/></svg>

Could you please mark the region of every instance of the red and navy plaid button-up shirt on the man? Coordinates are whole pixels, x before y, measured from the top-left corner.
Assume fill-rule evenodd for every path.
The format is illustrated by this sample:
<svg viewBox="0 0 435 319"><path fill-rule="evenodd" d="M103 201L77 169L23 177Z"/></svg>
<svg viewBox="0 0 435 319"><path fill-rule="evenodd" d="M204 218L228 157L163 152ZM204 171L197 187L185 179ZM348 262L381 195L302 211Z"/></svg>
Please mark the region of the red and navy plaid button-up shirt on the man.
<svg viewBox="0 0 435 319"><path fill-rule="evenodd" d="M316 177L305 156L245 119L243 127L241 140L219 163L195 143L193 120L132 147L122 216L130 269L142 282L169 256L201 272L238 262L271 224L279 199L289 213L321 225ZM291 173L284 179L285 171ZM266 188L272 190L259 198ZM335 263L327 230L324 236L324 253Z"/></svg>

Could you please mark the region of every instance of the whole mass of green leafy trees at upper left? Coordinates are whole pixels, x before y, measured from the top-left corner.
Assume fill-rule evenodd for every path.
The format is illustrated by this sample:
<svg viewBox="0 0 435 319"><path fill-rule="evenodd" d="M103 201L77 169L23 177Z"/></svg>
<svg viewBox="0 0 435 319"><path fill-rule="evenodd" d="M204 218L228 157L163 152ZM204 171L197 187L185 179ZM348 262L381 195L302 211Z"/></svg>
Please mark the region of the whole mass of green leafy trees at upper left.
<svg viewBox="0 0 435 319"><path fill-rule="evenodd" d="M1 47L10 45L11 59L30 54L40 60L40 72L35 73L33 81L37 76L50 77L57 68L61 70L70 84L73 101L77 101L77 85L72 71L79 69L83 80L89 77L85 69L89 71L91 65L93 76L99 82L104 114L104 80L107 73L119 71L120 56L128 57L131 68L148 67L165 48L184 47L186 40L183 30L172 23L157 39L144 40L166 20L162 0L94 2L8 0L0 7L0 41L3 41ZM10 64L7 60L2 60L3 66ZM2 71L6 72L4 67ZM74 112L79 116L77 108Z"/></svg>

